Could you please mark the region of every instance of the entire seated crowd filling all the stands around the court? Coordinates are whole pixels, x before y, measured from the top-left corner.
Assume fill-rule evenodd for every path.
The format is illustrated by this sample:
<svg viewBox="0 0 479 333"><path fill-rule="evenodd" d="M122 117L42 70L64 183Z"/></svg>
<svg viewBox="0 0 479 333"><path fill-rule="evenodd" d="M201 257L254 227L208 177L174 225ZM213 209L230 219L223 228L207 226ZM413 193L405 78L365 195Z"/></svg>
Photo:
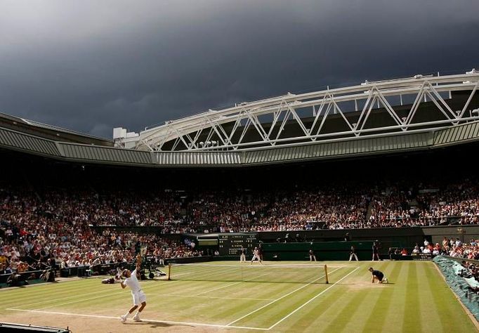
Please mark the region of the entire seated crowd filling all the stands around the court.
<svg viewBox="0 0 479 333"><path fill-rule="evenodd" d="M42 266L131 261L136 244L157 258L198 256L195 244L92 226L151 226L158 234L398 228L478 224L479 187L456 183L356 185L282 191L133 192L0 188L0 273ZM414 252L477 259L477 243L424 244ZM20 258L29 258L20 261ZM8 265L7 265L8 263Z"/></svg>

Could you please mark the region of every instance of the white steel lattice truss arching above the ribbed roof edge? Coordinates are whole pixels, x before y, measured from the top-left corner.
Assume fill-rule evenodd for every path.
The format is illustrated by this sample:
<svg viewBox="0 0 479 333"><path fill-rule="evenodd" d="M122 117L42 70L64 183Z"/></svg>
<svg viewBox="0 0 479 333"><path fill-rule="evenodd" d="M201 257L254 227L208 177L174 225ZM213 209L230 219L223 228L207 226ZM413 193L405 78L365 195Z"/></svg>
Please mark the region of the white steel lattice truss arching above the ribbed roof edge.
<svg viewBox="0 0 479 333"><path fill-rule="evenodd" d="M416 75L407 79L365 81L357 86L313 93L288 93L166 122L140 132L135 148L151 151L247 150L430 131L479 120L477 103L471 105L478 87L479 72L472 70L466 74ZM466 91L468 98L460 108L456 105L453 110L453 103L447 100L454 91ZM409 102L404 103L405 98L409 98ZM425 102L429 105L432 102L435 107L431 108L438 117L418 119L419 107ZM345 107L348 103L349 107ZM390 118L387 125L368 123L377 109L385 110ZM343 122L343 129L333 133L324 131L327 120L332 117L339 119L336 122ZM296 128L294 136L284 133L287 126Z"/></svg>

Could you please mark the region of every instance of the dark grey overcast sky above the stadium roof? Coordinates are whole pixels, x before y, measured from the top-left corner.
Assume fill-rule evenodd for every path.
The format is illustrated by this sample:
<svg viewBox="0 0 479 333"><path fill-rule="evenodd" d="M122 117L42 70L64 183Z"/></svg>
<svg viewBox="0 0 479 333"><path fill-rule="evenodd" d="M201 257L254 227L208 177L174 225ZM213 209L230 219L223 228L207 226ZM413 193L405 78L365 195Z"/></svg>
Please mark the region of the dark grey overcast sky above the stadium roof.
<svg viewBox="0 0 479 333"><path fill-rule="evenodd" d="M0 0L0 112L105 138L209 108L479 67L478 0Z"/></svg>

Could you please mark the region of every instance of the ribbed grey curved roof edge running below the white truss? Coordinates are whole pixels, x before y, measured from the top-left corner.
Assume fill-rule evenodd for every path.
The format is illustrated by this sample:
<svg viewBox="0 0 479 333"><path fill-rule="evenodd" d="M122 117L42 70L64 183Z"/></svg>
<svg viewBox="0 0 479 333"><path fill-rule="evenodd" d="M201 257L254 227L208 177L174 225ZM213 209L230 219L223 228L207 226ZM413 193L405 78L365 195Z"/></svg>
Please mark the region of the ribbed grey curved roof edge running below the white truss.
<svg viewBox="0 0 479 333"><path fill-rule="evenodd" d="M98 145L52 141L0 127L0 148L63 161L148 167L240 167L318 159L337 159L429 150L479 141L479 121L446 129L422 129L343 141L247 151L145 152Z"/></svg>

